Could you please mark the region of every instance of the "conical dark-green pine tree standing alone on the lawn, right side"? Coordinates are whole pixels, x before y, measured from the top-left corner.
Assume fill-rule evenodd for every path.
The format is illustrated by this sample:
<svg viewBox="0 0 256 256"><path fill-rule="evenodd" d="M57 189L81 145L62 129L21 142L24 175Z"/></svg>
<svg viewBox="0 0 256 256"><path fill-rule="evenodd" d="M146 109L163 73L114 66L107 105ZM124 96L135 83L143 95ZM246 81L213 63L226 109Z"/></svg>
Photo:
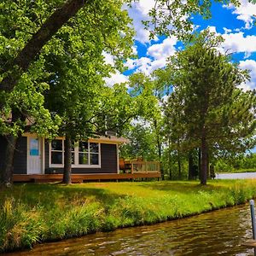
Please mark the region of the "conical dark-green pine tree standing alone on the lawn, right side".
<svg viewBox="0 0 256 256"><path fill-rule="evenodd" d="M174 87L169 118L181 125L184 148L201 148L201 184L207 184L209 149L244 149L255 129L255 94L238 88L247 72L214 48L219 42L202 32L170 58L165 71Z"/></svg>

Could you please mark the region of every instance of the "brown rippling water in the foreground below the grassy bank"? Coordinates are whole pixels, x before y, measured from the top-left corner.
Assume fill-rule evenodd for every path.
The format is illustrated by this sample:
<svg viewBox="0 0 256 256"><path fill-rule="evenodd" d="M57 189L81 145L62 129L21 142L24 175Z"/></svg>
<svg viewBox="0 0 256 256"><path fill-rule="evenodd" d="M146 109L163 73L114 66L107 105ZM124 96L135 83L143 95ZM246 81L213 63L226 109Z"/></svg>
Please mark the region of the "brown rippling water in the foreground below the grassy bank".
<svg viewBox="0 0 256 256"><path fill-rule="evenodd" d="M37 245L25 255L254 255L249 206Z"/></svg>

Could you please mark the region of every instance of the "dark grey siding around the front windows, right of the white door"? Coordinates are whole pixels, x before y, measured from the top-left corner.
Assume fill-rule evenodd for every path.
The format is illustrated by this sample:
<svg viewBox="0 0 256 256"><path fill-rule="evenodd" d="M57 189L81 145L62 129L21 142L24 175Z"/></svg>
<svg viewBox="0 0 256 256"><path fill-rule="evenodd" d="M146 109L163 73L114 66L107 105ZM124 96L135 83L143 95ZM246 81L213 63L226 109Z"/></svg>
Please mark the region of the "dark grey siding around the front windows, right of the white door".
<svg viewBox="0 0 256 256"><path fill-rule="evenodd" d="M101 168L73 168L72 173L117 173L116 144L101 144ZM45 173L63 173L63 168L49 168L49 143L45 144Z"/></svg>

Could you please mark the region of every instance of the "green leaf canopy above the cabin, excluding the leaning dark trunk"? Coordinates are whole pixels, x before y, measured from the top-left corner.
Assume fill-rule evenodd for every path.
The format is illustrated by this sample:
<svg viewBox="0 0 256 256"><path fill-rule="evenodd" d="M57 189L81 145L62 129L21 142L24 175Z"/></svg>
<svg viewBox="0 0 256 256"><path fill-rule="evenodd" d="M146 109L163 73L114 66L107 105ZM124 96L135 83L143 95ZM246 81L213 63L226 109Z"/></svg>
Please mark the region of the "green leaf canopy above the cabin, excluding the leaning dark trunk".
<svg viewBox="0 0 256 256"><path fill-rule="evenodd" d="M12 67L15 57L63 3L66 1L0 3L0 82L10 73L20 73L20 67ZM104 62L102 53L111 53L120 70L131 54L133 31L128 26L131 20L127 12L121 9L122 3L86 3L55 33L38 52L37 59L29 63L29 70L15 89L1 92L1 131L22 133L27 122L32 125L31 131L48 137L59 128L61 133L72 132L73 137L86 137L97 131L97 116L112 111L109 104L102 104L103 97L108 97L103 78L113 70ZM110 90L109 95L114 95ZM15 123L11 120L13 108L23 116ZM123 109L128 112L126 107Z"/></svg>

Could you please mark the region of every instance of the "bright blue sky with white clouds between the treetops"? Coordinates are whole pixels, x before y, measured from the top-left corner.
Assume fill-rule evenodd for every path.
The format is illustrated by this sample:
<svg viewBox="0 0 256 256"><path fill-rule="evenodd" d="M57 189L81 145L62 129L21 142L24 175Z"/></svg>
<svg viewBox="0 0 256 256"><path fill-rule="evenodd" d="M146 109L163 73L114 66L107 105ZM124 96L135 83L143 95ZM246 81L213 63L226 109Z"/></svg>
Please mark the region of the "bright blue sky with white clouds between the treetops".
<svg viewBox="0 0 256 256"><path fill-rule="evenodd" d="M224 37L224 43L219 50L232 53L233 61L236 61L241 69L250 70L251 80L241 84L241 88L253 90L256 89L256 26L253 25L256 4L247 0L240 2L241 5L237 8L212 2L212 18L203 20L201 16L195 15L193 23L197 31L209 27L212 32ZM128 9L136 30L133 53L137 54L137 59L128 59L125 62L125 73L113 74L107 79L109 85L127 81L131 73L142 72L148 75L157 68L164 68L166 57L174 55L181 47L175 37L155 37L154 40L149 40L149 32L144 29L141 20L148 20L148 10L153 6L154 0L140 0L132 3L132 8ZM106 56L106 59L111 62L111 57Z"/></svg>

